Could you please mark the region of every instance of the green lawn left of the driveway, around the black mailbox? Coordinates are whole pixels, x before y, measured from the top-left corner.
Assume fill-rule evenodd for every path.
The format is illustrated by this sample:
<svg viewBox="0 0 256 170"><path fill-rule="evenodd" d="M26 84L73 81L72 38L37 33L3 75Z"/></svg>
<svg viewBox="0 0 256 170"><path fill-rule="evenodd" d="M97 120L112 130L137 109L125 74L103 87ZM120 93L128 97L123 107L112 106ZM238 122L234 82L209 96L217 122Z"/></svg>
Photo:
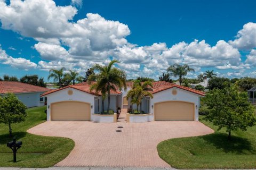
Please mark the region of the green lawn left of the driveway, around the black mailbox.
<svg viewBox="0 0 256 170"><path fill-rule="evenodd" d="M50 167L68 156L75 143L68 138L42 137L26 131L46 120L46 107L28 108L25 122L13 124L13 135L23 142L17 152L17 163L13 163L13 154L6 143L11 141L9 129L0 124L0 167Z"/></svg>

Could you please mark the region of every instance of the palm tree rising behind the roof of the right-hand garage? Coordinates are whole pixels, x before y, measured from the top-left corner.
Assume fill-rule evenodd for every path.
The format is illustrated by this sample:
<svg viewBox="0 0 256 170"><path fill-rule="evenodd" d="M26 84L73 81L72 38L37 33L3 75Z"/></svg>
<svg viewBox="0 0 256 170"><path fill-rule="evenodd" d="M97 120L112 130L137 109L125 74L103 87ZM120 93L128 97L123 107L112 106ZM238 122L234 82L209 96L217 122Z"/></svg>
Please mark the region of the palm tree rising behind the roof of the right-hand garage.
<svg viewBox="0 0 256 170"><path fill-rule="evenodd" d="M179 77L180 85L182 85L182 79L189 73L195 72L194 69L191 69L187 64L173 64L168 67L167 72L170 72L170 75L173 77Z"/></svg>

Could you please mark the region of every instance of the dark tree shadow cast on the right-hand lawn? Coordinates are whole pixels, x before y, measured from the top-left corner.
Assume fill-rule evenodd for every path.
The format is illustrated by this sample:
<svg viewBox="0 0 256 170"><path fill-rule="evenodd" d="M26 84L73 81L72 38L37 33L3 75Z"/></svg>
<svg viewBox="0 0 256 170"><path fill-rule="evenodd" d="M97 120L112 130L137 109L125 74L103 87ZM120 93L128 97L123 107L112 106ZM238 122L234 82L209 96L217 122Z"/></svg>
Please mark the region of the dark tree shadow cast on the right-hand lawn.
<svg viewBox="0 0 256 170"><path fill-rule="evenodd" d="M217 149L221 149L226 153L233 153L238 155L256 154L249 140L232 136L228 140L228 135L225 133L214 133L200 137L204 139L209 145L213 145Z"/></svg>

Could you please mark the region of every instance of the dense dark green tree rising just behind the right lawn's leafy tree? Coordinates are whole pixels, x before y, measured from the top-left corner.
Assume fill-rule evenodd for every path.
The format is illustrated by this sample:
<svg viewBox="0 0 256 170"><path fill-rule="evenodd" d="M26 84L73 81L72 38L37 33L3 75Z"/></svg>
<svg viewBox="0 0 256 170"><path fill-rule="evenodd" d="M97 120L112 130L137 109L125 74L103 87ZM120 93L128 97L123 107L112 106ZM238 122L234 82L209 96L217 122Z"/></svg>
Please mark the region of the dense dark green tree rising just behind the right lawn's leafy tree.
<svg viewBox="0 0 256 170"><path fill-rule="evenodd" d="M214 88L224 89L225 87L230 87L230 80L228 78L213 77L208 81L208 88L210 90Z"/></svg>

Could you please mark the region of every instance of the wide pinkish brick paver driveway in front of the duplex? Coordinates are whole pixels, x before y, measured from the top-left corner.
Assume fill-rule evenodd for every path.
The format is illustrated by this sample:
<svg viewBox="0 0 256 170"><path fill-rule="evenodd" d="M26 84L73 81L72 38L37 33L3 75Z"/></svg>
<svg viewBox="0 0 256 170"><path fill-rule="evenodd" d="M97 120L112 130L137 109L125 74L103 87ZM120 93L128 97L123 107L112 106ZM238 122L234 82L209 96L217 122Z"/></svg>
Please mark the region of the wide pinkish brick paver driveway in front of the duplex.
<svg viewBox="0 0 256 170"><path fill-rule="evenodd" d="M118 129L117 126L123 128ZM156 146L159 142L170 138L209 134L213 130L195 121L49 121L29 129L28 132L67 137L75 141L75 148L56 166L170 167L158 156Z"/></svg>

